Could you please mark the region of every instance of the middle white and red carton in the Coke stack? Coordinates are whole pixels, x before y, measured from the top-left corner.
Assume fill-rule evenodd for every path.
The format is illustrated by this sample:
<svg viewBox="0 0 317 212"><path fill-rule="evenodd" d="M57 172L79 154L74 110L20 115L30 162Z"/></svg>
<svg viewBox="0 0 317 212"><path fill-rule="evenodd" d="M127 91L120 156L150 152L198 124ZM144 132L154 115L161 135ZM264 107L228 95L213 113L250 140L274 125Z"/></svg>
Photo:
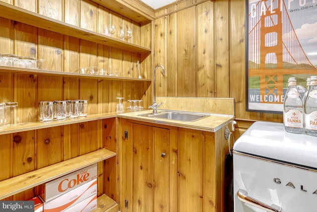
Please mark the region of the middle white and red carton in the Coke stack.
<svg viewBox="0 0 317 212"><path fill-rule="evenodd" d="M97 179L89 181L44 204L44 212L62 212L83 200L97 195Z"/></svg>

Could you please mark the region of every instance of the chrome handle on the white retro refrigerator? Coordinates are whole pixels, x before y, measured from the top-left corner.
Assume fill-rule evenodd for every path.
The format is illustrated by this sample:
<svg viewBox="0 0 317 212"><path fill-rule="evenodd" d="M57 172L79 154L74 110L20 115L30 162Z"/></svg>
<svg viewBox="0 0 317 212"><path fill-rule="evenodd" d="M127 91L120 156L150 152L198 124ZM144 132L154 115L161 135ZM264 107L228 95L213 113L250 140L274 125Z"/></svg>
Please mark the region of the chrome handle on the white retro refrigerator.
<svg viewBox="0 0 317 212"><path fill-rule="evenodd" d="M256 199L248 196L248 192L246 192L242 189L239 189L239 191L237 193L237 197L241 202L250 204L254 207L257 207L259 209L263 209L263 210L268 211L268 212L281 212L282 211L282 208L279 207L279 209L277 209L278 206L276 206L274 204L272 206L268 206L265 203L262 203L259 200L256 200Z"/></svg>

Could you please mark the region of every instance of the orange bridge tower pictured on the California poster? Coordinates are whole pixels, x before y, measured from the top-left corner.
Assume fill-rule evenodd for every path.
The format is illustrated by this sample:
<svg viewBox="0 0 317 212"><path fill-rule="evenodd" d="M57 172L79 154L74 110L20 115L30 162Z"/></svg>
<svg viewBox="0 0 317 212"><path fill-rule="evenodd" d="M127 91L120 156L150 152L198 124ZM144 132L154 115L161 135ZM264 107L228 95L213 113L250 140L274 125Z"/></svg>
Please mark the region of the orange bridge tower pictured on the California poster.
<svg viewBox="0 0 317 212"><path fill-rule="evenodd" d="M273 5L265 6L265 14L261 16L260 69L268 69L260 78L262 96L283 95L283 74L278 74L283 70L282 12L278 1L273 0ZM265 5L265 2L266 0L262 0L261 4ZM276 63L276 67L273 67L274 64L270 64L271 62L265 65L268 58ZM274 93L275 89L277 93ZM278 102L270 103L281 103L281 98Z"/></svg>

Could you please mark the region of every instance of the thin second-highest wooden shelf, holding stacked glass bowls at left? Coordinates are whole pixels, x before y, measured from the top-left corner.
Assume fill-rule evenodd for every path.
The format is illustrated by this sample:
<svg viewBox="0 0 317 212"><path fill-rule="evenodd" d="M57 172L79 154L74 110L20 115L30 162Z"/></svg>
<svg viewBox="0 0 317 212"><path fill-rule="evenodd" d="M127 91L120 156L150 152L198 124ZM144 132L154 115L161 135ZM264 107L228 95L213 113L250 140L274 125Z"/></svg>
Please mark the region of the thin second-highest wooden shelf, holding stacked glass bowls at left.
<svg viewBox="0 0 317 212"><path fill-rule="evenodd" d="M79 78L95 78L95 79L109 79L109 80L120 80L120 81L148 81L151 79L139 79L131 77L121 77L121 76L101 76L94 74L84 74L77 72L65 72L65 71L51 71L51 70L40 70L40 69L22 69L15 67L2 67L0 66L0 72L9 73L25 73L25 74L36 74L36 75L48 75L48 76L66 76L66 77L79 77Z"/></svg>

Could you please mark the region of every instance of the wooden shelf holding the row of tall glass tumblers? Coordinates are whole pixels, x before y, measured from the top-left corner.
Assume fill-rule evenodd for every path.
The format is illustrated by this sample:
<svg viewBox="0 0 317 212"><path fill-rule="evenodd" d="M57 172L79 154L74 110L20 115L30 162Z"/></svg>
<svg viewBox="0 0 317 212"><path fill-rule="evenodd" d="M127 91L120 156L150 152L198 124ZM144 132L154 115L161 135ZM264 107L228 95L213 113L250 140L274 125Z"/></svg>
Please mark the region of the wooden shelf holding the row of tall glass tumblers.
<svg viewBox="0 0 317 212"><path fill-rule="evenodd" d="M90 122L90 121L96 121L96 120L114 118L114 117L116 117L116 112L92 114L92 115L88 115L87 118L78 118L74 120L67 119L66 121L53 121L51 123L28 122L28 123L17 124L15 126L7 126L4 129L0 129L0 135L18 133L18 132L29 131L29 130L51 128L51 127L57 127L57 126L63 126L63 125L71 125L76 123Z"/></svg>

